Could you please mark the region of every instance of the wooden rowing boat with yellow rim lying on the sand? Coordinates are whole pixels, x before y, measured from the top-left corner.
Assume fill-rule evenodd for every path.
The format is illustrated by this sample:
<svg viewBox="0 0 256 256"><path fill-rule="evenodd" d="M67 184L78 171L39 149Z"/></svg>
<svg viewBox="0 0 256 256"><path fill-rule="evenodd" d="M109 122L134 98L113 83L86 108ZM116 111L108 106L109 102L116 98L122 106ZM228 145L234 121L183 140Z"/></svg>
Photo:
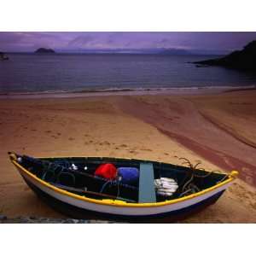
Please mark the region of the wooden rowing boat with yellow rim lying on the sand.
<svg viewBox="0 0 256 256"><path fill-rule="evenodd" d="M179 219L211 205L234 181L238 172L207 172L189 163L176 166L148 160L106 157L32 158L9 152L11 162L28 186L51 207L85 218L93 213L107 218ZM96 167L112 163L116 167L136 167L136 184L96 177ZM75 170L72 166L76 166ZM171 194L156 193L156 180L177 183ZM104 188L104 191L103 191Z"/></svg>

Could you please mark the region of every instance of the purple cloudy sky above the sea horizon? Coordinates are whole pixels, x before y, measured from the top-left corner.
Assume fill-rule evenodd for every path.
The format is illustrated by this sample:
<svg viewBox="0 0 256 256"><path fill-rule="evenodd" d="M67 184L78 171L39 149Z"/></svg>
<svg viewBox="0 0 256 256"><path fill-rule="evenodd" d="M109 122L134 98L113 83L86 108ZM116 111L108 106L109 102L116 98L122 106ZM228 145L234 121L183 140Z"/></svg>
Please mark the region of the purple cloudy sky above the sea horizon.
<svg viewBox="0 0 256 256"><path fill-rule="evenodd" d="M226 53L253 39L256 32L0 32L0 51L176 48Z"/></svg>

